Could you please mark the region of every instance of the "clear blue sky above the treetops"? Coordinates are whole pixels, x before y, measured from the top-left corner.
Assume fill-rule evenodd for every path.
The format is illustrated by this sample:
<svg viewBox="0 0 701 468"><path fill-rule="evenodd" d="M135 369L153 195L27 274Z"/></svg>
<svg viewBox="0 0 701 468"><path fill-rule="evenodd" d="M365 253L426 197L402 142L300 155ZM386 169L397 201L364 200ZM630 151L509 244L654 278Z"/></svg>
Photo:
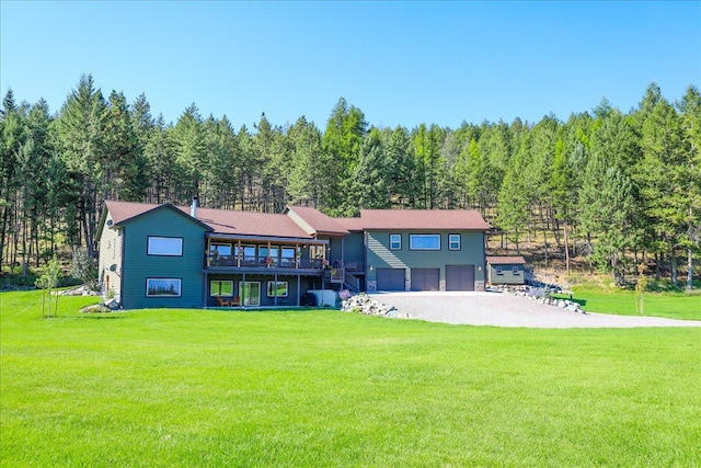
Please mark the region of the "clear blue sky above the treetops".
<svg viewBox="0 0 701 468"><path fill-rule="evenodd" d="M655 81L701 82L701 2L0 1L0 88L59 111L82 73L146 93L175 122L191 103L252 127L338 98L371 125L566 119L623 112Z"/></svg>

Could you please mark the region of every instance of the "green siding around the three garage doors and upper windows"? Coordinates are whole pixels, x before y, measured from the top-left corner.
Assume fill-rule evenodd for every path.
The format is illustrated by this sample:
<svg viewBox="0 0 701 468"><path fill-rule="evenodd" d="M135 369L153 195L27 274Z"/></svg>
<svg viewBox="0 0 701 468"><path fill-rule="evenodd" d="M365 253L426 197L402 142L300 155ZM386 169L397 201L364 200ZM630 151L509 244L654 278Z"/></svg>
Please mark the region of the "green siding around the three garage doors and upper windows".
<svg viewBox="0 0 701 468"><path fill-rule="evenodd" d="M390 250L390 233L402 236L402 249ZM411 250L409 236L412 233L440 233L440 250ZM460 250L449 250L448 236L460 235ZM440 269L440 282L445 285L446 265L474 265L474 281L484 282L484 235L482 231L430 230L371 230L368 231L366 273L368 282L375 282L377 269L406 269L411 282L411 269ZM370 271L372 266L372 271Z"/></svg>

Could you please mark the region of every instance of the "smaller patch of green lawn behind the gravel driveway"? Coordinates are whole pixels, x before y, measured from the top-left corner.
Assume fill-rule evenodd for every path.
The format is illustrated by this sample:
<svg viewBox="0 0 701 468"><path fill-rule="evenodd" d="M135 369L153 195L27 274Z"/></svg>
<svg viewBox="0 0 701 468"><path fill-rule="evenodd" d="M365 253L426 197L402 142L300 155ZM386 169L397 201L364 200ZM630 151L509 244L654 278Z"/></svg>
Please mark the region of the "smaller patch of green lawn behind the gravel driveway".
<svg viewBox="0 0 701 468"><path fill-rule="evenodd" d="M568 298L570 296L556 295L555 297ZM632 290L575 287L573 298L588 312L640 315L640 310L635 309L635 292ZM650 317L701 320L701 295L646 293L644 311L644 315Z"/></svg>

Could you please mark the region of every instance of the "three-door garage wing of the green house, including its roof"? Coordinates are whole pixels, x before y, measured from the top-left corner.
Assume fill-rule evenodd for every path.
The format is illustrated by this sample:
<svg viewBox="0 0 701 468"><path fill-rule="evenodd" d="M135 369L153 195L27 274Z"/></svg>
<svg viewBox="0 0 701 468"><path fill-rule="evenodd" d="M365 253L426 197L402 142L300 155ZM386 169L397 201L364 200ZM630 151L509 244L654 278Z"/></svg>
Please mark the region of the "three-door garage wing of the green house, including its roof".
<svg viewBox="0 0 701 468"><path fill-rule="evenodd" d="M475 210L364 209L338 221L349 246L363 233L369 292L484 290L489 225Z"/></svg>

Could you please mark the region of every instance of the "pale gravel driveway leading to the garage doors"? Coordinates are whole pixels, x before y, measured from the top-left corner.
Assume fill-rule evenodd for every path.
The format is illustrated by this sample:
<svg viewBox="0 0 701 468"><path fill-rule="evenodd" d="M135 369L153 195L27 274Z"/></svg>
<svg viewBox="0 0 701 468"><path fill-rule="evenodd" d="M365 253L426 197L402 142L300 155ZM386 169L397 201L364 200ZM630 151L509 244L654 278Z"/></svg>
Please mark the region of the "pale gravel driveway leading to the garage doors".
<svg viewBox="0 0 701 468"><path fill-rule="evenodd" d="M379 303L432 322L527 328L701 327L699 320L576 313L501 293L372 293Z"/></svg>

